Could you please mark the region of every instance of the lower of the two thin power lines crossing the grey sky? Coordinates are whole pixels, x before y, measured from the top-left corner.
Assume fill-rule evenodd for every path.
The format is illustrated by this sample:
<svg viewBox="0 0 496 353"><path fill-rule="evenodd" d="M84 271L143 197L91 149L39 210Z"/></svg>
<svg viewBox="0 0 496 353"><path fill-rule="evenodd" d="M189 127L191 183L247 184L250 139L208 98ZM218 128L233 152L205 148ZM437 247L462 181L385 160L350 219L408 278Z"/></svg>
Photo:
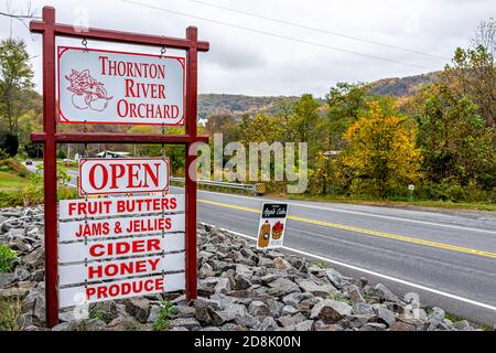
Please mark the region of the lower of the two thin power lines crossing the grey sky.
<svg viewBox="0 0 496 353"><path fill-rule="evenodd" d="M277 33L272 33L272 32L267 32L267 31L262 31L262 30L250 29L250 28L247 28L247 26L238 25L238 24L233 24L233 23L228 23L228 22L212 20L212 19L207 19L207 18L194 15L194 14L188 14L188 13L184 13L184 12L180 12L180 11L175 11L175 10L171 10L171 9L165 9L165 8L161 8L161 7L157 7L157 6L152 6L152 4L148 4L148 3L137 2L137 1L131 1L131 0L121 0L121 1L130 3L130 4L143 7L143 8L152 9L152 10L164 11L164 12L173 13L173 14L176 14L176 15L182 15L182 17L186 17L186 18L201 20L201 21L212 22L212 23L216 23L216 24L220 24L220 25L225 25L225 26L230 26L230 28L235 28L235 29L239 29L239 30L244 30L244 31L249 31L249 32L254 32L254 33L258 33L258 34L269 35L269 36L273 36L273 38L278 38L278 39L282 39L282 40L287 40L287 41L298 42L298 43L302 43L302 44L308 44L308 45L313 45L313 46L328 49L328 50L332 50L332 51L344 52L344 53L348 53L348 54L365 56L365 57L368 57L368 58L374 58L374 60L385 61L385 62L389 62L389 63L395 63L395 64L400 64L400 65L412 66L412 67L417 67L417 68L431 71L431 68L429 68L427 66L422 66L422 65L406 63L406 62L401 62L401 61L397 61L397 60L388 58L388 57L384 57L384 56L377 56L377 55L355 52L355 51L351 51L351 50L346 50L346 49L342 49L342 47L336 47L336 46L331 46L331 45L326 45L326 44L322 44L322 43L317 43L317 42L300 40L300 39L296 39L296 38L282 35L282 34L277 34Z"/></svg>

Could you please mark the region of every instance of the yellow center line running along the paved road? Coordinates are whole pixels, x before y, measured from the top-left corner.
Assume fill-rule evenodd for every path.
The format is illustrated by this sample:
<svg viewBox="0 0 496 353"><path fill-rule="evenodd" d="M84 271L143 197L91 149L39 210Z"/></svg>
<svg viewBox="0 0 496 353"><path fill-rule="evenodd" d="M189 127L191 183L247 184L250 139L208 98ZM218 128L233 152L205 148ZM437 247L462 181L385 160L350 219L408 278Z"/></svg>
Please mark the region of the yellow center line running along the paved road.
<svg viewBox="0 0 496 353"><path fill-rule="evenodd" d="M226 203L222 203L222 202L215 202L215 201L202 200L202 199L198 199L198 202L219 206L219 207L226 207L226 208L233 208L233 210L260 214L260 210L257 210L257 208L230 205L230 204L226 204ZM311 220L311 218L305 218L305 217L298 217L298 216L289 215L288 218L292 220L292 221L296 221L296 222L310 223L310 224L321 225L321 226L331 227L331 228L337 228L337 229L349 231L349 232L355 232L355 233L375 235L375 236L378 236L381 238L395 239L395 240L406 242L406 243L410 243L410 244L418 244L418 245L436 247L436 248L441 248L441 249L445 249L445 250L452 250L452 252L457 252L457 253L496 258L496 253L477 250L477 249L472 249L472 248L451 245L451 244L424 240L424 239L413 238L413 237L409 237L409 236L405 236L405 235L358 228L358 227L347 226L347 225L343 225L343 224Z"/></svg>

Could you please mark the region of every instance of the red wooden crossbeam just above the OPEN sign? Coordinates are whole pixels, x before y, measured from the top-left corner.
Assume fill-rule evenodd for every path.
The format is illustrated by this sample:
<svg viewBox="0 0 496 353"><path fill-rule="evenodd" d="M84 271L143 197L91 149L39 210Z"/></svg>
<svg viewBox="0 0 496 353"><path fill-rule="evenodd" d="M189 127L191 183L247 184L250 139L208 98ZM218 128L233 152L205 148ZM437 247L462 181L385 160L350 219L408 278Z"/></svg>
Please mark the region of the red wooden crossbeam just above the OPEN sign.
<svg viewBox="0 0 496 353"><path fill-rule="evenodd" d="M44 142L45 132L32 132L31 141ZM208 136L190 135L159 135L159 133L116 133L116 132L57 132L55 141L58 143L165 143L186 145L208 142Z"/></svg>

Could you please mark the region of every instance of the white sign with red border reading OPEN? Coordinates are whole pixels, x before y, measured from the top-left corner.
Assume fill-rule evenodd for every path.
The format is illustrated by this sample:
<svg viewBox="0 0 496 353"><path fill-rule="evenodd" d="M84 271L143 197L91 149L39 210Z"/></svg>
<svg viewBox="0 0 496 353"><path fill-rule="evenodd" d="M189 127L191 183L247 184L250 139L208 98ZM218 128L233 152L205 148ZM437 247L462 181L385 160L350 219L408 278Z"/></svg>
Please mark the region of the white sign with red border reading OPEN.
<svg viewBox="0 0 496 353"><path fill-rule="evenodd" d="M79 194L169 191L166 158L91 158L79 160Z"/></svg>

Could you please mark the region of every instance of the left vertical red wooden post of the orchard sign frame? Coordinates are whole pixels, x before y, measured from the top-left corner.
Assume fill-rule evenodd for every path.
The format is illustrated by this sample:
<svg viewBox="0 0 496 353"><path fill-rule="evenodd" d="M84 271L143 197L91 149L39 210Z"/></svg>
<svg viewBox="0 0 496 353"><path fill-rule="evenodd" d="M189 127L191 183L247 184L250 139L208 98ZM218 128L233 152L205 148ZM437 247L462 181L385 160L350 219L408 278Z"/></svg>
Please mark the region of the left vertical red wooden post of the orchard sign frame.
<svg viewBox="0 0 496 353"><path fill-rule="evenodd" d="M57 264L57 167L55 121L55 9L43 8L43 129L46 141L44 159L45 205L45 302L46 325L58 323L58 264Z"/></svg>

